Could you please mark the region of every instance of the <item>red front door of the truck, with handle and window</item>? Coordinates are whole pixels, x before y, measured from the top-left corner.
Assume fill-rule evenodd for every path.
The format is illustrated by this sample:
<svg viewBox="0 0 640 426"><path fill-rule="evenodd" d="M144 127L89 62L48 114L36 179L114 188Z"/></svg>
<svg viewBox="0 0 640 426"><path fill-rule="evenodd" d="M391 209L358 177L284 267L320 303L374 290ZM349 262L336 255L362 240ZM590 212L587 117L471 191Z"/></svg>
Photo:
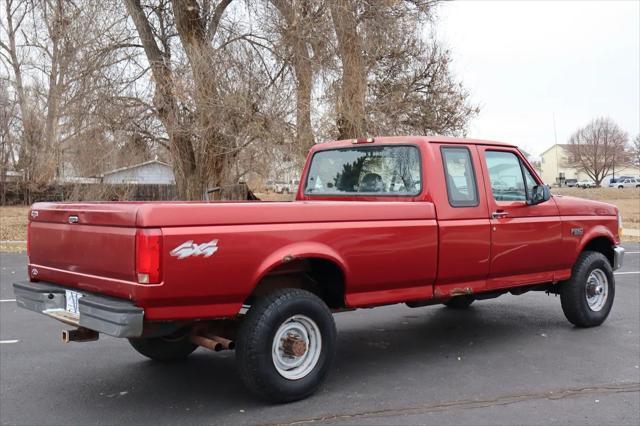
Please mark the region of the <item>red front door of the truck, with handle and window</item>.
<svg viewBox="0 0 640 426"><path fill-rule="evenodd" d="M491 266L487 288L551 280L562 256L559 210L553 198L527 203L542 184L517 149L479 146L491 222Z"/></svg>

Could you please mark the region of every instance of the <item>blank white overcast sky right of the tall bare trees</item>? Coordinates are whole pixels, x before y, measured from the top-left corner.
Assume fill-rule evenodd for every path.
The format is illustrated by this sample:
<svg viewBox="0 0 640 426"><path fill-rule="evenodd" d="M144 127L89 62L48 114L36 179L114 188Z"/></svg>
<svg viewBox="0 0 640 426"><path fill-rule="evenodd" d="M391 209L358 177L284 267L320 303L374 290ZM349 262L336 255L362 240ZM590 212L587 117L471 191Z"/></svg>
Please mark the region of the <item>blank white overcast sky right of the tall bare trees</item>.
<svg viewBox="0 0 640 426"><path fill-rule="evenodd" d="M533 154L592 118L640 132L640 1L455 1L438 37L481 107L470 137Z"/></svg>

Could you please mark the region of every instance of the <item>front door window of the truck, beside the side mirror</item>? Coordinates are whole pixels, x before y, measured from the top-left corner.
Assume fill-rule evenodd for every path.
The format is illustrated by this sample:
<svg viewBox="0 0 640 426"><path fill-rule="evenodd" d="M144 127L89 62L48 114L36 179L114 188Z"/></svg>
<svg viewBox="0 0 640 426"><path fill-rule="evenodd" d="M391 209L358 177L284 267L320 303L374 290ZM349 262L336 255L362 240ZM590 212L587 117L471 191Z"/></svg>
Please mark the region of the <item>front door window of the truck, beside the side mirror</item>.
<svg viewBox="0 0 640 426"><path fill-rule="evenodd" d="M531 190L536 185L535 179L521 166L520 159L514 153L486 151L485 159L489 169L491 192L496 201L526 201L527 196L531 196Z"/></svg>

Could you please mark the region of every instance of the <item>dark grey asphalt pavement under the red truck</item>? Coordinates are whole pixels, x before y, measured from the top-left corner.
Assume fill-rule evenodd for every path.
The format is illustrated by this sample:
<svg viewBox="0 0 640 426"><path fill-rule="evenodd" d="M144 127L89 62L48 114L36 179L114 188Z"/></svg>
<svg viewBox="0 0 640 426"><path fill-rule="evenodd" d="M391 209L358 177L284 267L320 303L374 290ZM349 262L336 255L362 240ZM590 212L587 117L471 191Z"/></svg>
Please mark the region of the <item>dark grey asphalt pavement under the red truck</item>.
<svg viewBox="0 0 640 426"><path fill-rule="evenodd" d="M125 340L62 344L62 325L0 302L2 424L640 424L640 246L628 245L607 322L581 330L554 296L404 305L336 316L339 348L314 397L267 405L233 353L158 365ZM26 277L1 255L0 299Z"/></svg>

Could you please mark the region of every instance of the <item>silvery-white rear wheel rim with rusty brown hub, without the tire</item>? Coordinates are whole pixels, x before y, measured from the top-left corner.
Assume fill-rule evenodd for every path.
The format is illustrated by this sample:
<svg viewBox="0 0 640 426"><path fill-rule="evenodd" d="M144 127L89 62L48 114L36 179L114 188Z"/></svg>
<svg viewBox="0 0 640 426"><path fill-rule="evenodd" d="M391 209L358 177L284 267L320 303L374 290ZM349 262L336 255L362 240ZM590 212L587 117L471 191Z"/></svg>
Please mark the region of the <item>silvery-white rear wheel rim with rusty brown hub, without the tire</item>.
<svg viewBox="0 0 640 426"><path fill-rule="evenodd" d="M271 355L282 377L298 380L313 371L321 351L322 335L318 325L305 315L294 315L276 331Z"/></svg>

